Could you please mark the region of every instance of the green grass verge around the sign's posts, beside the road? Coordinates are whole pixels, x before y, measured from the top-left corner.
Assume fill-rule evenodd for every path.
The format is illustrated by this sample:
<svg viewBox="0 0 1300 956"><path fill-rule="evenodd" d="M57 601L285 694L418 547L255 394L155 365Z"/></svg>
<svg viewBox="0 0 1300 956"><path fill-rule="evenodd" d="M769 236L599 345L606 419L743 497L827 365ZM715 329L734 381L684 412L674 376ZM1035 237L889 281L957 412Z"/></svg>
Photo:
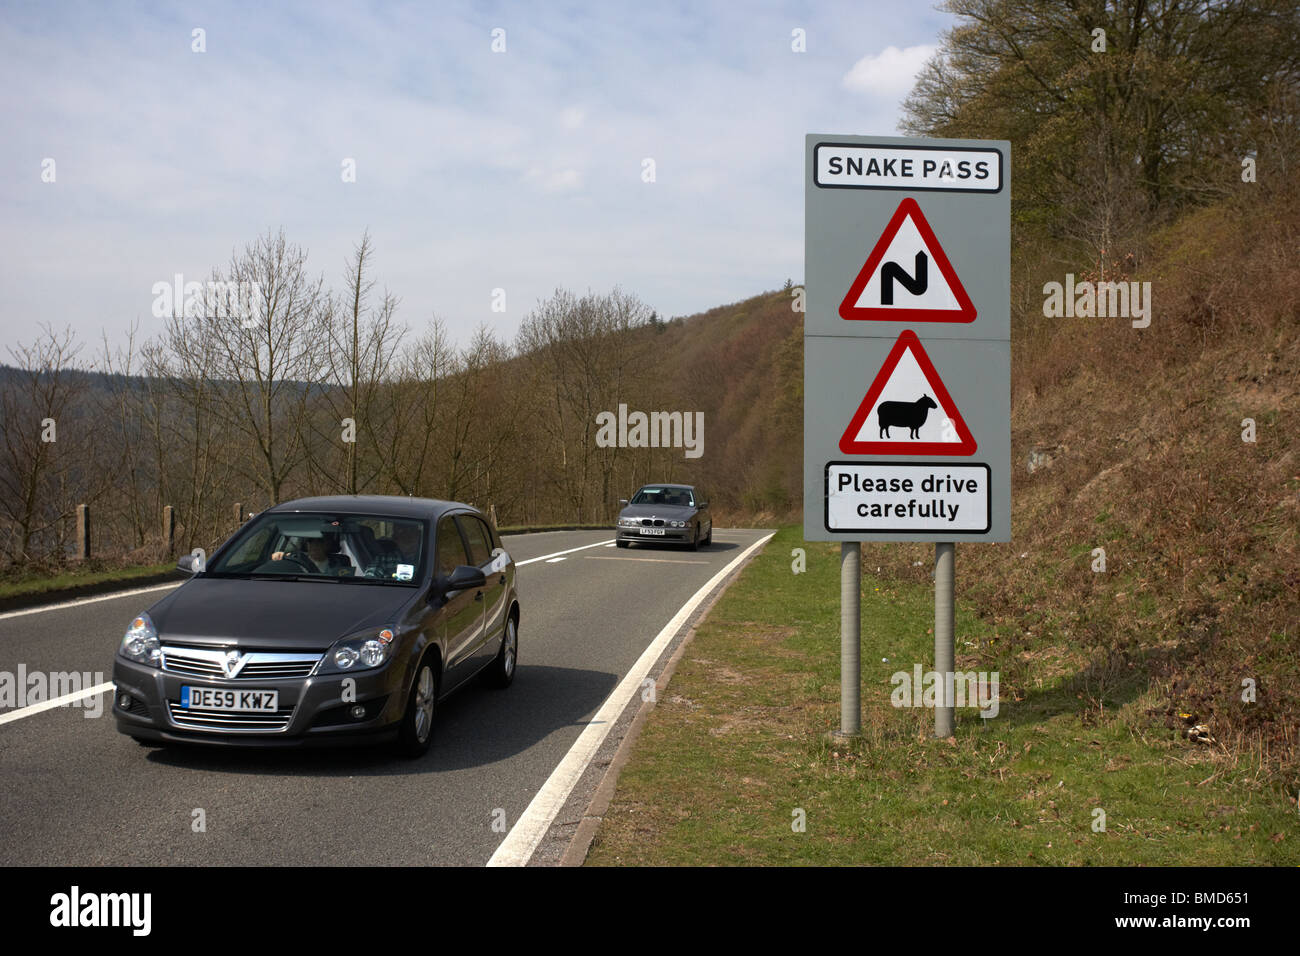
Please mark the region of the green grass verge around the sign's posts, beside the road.
<svg viewBox="0 0 1300 956"><path fill-rule="evenodd" d="M1248 753L1152 719L1154 691L1043 669L1004 688L997 717L959 710L954 740L935 740L932 710L890 705L890 675L932 663L932 591L864 570L862 737L828 739L838 548L785 528L688 646L589 864L1300 862L1295 793ZM998 639L958 601L957 666L987 670Z"/></svg>

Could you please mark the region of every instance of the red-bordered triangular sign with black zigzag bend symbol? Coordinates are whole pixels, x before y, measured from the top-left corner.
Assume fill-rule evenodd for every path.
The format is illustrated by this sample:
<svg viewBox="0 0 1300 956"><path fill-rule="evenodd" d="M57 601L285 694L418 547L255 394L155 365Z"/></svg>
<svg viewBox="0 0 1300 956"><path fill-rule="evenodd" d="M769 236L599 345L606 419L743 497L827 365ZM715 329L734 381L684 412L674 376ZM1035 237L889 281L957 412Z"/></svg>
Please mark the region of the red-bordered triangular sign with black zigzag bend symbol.
<svg viewBox="0 0 1300 956"><path fill-rule="evenodd" d="M840 317L975 321L975 306L915 199L909 196L898 203L840 303Z"/></svg>

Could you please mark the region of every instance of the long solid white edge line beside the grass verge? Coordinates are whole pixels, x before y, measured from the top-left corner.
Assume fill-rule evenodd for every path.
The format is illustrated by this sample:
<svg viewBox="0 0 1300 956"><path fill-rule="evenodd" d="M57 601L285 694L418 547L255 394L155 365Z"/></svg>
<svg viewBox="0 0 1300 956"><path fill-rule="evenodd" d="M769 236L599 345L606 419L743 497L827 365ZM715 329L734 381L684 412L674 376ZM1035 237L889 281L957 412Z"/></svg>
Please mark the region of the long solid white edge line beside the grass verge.
<svg viewBox="0 0 1300 956"><path fill-rule="evenodd" d="M488 861L489 866L526 866L528 861L532 860L533 853L537 852L538 844L546 836L546 831L550 830L551 823L559 814L560 809L564 806L564 801L568 800L569 793L573 792L573 787L577 784L578 779L582 777L582 771L586 770L592 758L595 757L597 752L601 749L601 744L604 743L604 737L610 734L610 727L618 719L619 714L632 700L632 696L641 689L641 682L645 680L646 674L654 666L655 661L663 654L664 648L667 648L672 639L676 636L677 631L690 619L690 615L703 602L714 588L720 584L727 575L729 575L737 564L740 564L745 558L753 554L757 549L762 548L764 544L772 540L772 535L766 535L759 538L744 551L740 557L732 561L727 567L714 575L708 583L697 591L686 604L681 606L659 635L650 641L650 646L642 652L637 662L632 665L632 670L627 672L619 685L614 688L614 692L606 697L604 704L601 709L595 711L595 715L588 722L588 726L578 735L578 739L569 748L569 752L564 754L564 760L559 762L559 766L551 771L550 778L542 784L542 788L537 791L537 796L533 797L532 803L528 804L528 809L515 823L514 829L506 834L506 839L502 840L500 845L497 847L497 852L491 855Z"/></svg>

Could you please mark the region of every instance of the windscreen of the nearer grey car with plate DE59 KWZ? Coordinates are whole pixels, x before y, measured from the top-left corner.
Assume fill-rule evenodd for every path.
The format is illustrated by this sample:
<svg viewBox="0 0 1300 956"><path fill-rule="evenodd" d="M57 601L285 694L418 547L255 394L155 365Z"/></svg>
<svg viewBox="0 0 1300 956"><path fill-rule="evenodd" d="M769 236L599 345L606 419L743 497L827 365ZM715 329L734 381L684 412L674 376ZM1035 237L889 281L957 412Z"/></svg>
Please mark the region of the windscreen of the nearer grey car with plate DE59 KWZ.
<svg viewBox="0 0 1300 956"><path fill-rule="evenodd" d="M424 523L412 518L263 512L205 575L416 587L426 550Z"/></svg>

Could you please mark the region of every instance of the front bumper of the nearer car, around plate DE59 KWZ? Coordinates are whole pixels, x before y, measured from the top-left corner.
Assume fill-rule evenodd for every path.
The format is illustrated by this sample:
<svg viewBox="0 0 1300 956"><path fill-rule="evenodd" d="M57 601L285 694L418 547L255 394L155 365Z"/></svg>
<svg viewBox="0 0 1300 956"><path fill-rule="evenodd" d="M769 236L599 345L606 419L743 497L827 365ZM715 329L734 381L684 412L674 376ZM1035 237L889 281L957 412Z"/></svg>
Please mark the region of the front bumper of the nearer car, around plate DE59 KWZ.
<svg viewBox="0 0 1300 956"><path fill-rule="evenodd" d="M344 680L355 687L344 688ZM382 743L396 736L406 702L403 669L396 659L384 667L356 674L311 678L216 680L173 674L159 667L113 659L113 717L117 730L133 737L159 743L198 743L224 747L303 747L346 743ZM194 726L188 719L207 711L181 710L181 687L214 687L224 691L277 691L280 710L266 714L277 728L238 724ZM344 691L347 696L344 697ZM131 698L122 706L124 695ZM354 718L354 705L365 715ZM235 718L239 719L239 718ZM283 726L280 727L278 724Z"/></svg>

